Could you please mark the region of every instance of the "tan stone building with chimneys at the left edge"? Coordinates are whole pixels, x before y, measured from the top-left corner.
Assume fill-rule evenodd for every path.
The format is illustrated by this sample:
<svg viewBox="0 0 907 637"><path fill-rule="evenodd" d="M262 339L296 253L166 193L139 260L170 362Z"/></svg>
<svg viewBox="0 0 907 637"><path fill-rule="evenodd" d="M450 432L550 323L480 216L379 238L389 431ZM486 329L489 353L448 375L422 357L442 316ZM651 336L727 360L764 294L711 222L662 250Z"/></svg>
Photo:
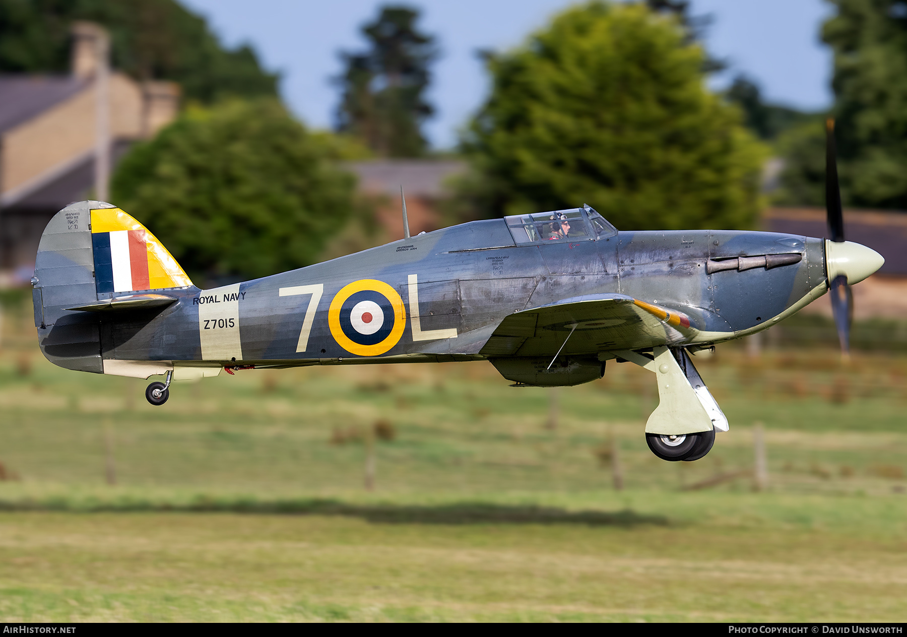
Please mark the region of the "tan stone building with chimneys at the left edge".
<svg viewBox="0 0 907 637"><path fill-rule="evenodd" d="M71 73L0 74L0 285L27 281L47 221L93 190L100 129L96 90L107 77L112 161L176 116L179 86L106 73L98 25L73 25ZM101 103L103 107L103 104Z"/></svg>

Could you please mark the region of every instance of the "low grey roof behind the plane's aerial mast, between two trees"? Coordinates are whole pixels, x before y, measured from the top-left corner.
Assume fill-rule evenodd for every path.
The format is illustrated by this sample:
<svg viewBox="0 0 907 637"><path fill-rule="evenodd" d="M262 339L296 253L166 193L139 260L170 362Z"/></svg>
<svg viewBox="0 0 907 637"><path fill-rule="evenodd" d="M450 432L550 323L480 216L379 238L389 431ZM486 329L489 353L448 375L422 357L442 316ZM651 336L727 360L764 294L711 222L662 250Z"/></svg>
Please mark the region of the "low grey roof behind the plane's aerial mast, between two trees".
<svg viewBox="0 0 907 637"><path fill-rule="evenodd" d="M346 166L359 177L359 188L366 192L405 194L416 197L441 197L444 181L466 170L466 164L452 160L376 160L349 162Z"/></svg>

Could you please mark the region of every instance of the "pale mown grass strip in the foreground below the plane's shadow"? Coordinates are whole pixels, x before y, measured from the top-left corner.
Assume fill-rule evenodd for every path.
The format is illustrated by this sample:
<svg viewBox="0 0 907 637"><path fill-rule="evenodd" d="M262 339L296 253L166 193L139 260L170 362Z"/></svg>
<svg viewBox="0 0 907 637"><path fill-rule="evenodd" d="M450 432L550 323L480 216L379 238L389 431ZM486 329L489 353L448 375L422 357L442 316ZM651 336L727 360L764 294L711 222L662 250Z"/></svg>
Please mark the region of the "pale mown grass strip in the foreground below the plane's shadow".
<svg viewBox="0 0 907 637"><path fill-rule="evenodd" d="M682 516L699 521L4 513L0 615L14 622L902 620L902 535L838 529L842 515L829 509L852 505L847 499L830 506L831 496L629 498L642 507L684 505ZM597 504L613 500L602 494ZM733 513L708 513L722 505ZM900 503L856 506L871 526L894 523L902 533Z"/></svg>

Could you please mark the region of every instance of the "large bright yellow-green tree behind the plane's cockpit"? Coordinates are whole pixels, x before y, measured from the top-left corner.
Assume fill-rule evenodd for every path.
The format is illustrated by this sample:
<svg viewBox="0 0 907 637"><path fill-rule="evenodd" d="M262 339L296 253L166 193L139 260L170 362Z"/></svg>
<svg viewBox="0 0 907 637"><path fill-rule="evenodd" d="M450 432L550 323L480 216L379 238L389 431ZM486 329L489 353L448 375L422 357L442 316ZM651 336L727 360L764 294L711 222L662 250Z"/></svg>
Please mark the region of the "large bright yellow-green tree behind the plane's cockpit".
<svg viewBox="0 0 907 637"><path fill-rule="evenodd" d="M592 2L490 55L463 148L481 216L588 202L619 228L740 228L764 149L704 88L705 54L669 15Z"/></svg>

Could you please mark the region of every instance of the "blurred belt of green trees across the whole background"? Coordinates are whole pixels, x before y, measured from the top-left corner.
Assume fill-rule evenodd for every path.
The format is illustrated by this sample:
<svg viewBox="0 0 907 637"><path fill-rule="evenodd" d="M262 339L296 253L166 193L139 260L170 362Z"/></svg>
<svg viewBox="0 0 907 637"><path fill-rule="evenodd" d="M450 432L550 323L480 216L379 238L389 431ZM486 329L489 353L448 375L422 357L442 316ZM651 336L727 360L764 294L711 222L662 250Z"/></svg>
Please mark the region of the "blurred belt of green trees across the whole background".
<svg viewBox="0 0 907 637"><path fill-rule="evenodd" d="M356 181L341 174L366 158L462 158L471 170L440 204L450 222L588 202L626 230L754 228L769 202L823 204L830 114L845 205L907 208L907 3L830 2L827 113L766 101L744 73L710 89L727 64L701 44L708 17L685 0L593 0L522 45L483 52L490 92L447 152L422 130L440 44L406 5L378 8L362 26L366 45L339 52L336 132L293 122L277 102L278 74L249 46L224 47L176 0L0 0L0 72L63 73L69 27L85 19L111 31L115 67L180 83L186 113L122 162L117 202L188 269L249 277L377 240L375 201L356 200ZM301 236L292 248L281 220Z"/></svg>

